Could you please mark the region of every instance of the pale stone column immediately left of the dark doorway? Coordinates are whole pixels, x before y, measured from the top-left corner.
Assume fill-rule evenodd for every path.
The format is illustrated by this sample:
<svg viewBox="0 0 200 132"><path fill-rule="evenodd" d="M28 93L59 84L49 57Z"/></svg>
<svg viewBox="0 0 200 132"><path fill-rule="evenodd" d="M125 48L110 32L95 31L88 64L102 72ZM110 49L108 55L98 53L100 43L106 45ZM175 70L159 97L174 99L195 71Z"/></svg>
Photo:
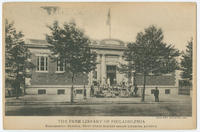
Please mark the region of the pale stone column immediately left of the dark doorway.
<svg viewBox="0 0 200 132"><path fill-rule="evenodd" d="M106 58L105 55L102 55L101 58L101 83L105 84L106 82Z"/></svg>

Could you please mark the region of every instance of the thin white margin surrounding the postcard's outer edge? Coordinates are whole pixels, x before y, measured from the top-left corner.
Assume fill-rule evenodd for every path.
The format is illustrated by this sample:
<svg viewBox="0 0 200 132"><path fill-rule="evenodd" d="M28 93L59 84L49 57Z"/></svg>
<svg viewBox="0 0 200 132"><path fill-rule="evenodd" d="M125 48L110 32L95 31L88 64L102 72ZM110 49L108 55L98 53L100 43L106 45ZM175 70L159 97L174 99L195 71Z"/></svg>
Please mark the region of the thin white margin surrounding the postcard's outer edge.
<svg viewBox="0 0 200 132"><path fill-rule="evenodd" d="M198 60L198 56L200 56L200 17L199 17L199 12L200 12L200 0L0 0L0 39L1 39L1 45L0 45L0 53L2 53L2 3L3 2L197 2L197 80L199 80L199 75L200 75L200 71L198 70L198 68L200 68L200 60ZM8 131L8 130L3 130L3 117L2 117L2 54L0 55L0 131ZM200 93L200 89L198 88L198 86L200 86L200 81L197 81L197 93L199 95ZM200 131L200 114L198 114L198 112L200 112L200 106L199 106L199 102L200 102L200 97L197 95L197 129L196 130L176 130L176 131L181 131L181 132L187 132L187 131L191 131L191 132L197 132ZM21 132L21 131L28 131L28 130L13 130L14 132ZM30 131L30 130L29 130ZM36 131L36 130L32 130L32 131ZM42 130L37 130L39 132L42 132ZM45 130L47 131L47 130ZM56 132L57 130L51 130L51 132ZM66 131L66 130L60 130L60 131ZM79 132L89 132L90 130L68 130L69 132L75 132L75 131L79 131ZM93 130L93 131L102 131L102 130ZM104 131L112 131L114 132L114 130L104 130ZM119 130L120 132L122 132L123 130ZM139 131L139 132L143 132L146 130L134 130L134 131ZM153 132L155 130L148 130L150 132ZM165 132L169 132L170 130L157 130L157 131L165 131ZM175 130L173 130L175 131Z"/></svg>

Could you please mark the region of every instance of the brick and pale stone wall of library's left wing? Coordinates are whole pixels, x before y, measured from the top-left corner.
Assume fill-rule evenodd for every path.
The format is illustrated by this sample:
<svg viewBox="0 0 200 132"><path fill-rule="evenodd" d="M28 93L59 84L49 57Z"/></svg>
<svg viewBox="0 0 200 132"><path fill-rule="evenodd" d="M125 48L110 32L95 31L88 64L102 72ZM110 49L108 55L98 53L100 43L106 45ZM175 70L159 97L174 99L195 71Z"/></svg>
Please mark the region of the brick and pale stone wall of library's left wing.
<svg viewBox="0 0 200 132"><path fill-rule="evenodd" d="M49 55L49 50L45 48L30 48L32 53L31 61L36 66L30 72L31 79L26 79L26 94L32 96L38 101L53 101L53 102L70 102L72 75L69 72L58 72L57 62L53 62ZM37 56L48 56L48 71L37 71ZM84 85L86 87L86 96L89 97L90 89L88 85L88 74L79 74L74 78L74 100L84 98ZM39 94L39 91L44 90L44 94ZM58 90L64 90L64 94L58 94ZM82 93L76 93L77 90L82 90Z"/></svg>

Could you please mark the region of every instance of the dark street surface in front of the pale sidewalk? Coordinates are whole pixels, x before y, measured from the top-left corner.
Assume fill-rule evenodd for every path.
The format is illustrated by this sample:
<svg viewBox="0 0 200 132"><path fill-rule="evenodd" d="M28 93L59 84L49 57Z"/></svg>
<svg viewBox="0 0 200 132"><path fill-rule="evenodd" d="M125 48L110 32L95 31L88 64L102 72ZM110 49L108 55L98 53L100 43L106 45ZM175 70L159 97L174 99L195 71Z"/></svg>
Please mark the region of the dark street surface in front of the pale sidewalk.
<svg viewBox="0 0 200 132"><path fill-rule="evenodd" d="M191 116L191 103L6 106L8 116Z"/></svg>

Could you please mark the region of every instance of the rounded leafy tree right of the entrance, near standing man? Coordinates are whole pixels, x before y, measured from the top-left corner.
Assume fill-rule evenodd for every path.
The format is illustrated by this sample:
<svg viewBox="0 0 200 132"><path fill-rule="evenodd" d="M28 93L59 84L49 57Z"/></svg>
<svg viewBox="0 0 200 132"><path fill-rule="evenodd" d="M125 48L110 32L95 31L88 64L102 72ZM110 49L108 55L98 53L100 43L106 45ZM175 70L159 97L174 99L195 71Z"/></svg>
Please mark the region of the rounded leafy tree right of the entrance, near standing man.
<svg viewBox="0 0 200 132"><path fill-rule="evenodd" d="M142 101L145 100L146 76L150 73L160 75L173 72L178 69L176 57L179 51L171 44L163 42L162 30L155 26L149 26L137 34L136 42L128 43L124 51L124 59L127 64L122 66L126 73L135 71L143 75Z"/></svg>

